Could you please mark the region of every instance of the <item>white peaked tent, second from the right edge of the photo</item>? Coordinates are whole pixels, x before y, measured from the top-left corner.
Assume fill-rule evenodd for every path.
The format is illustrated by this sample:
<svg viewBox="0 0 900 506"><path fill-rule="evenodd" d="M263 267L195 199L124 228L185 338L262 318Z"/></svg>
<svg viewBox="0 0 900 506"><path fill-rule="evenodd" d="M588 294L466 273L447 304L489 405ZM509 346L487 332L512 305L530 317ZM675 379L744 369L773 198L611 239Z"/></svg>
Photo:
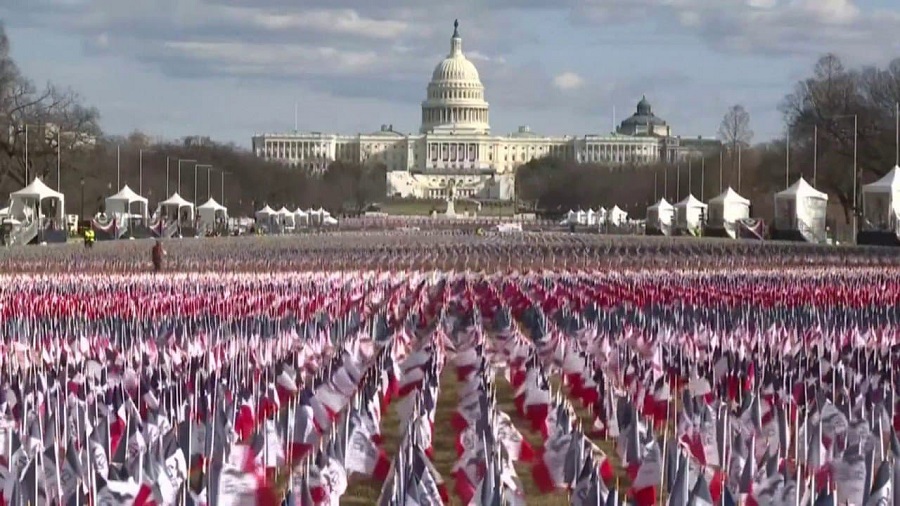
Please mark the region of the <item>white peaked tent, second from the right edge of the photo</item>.
<svg viewBox="0 0 900 506"><path fill-rule="evenodd" d="M825 236L828 194L816 190L802 177L788 189L775 194L775 228L809 232L817 239Z"/></svg>

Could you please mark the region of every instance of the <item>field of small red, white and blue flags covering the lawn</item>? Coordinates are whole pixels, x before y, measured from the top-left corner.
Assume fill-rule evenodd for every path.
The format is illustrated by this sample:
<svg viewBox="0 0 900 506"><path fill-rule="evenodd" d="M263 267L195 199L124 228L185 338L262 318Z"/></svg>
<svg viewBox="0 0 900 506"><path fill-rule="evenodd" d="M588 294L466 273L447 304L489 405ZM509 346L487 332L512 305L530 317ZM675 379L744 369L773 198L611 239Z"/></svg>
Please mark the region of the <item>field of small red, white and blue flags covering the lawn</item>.
<svg viewBox="0 0 900 506"><path fill-rule="evenodd" d="M900 504L879 250L267 241L2 257L0 505Z"/></svg>

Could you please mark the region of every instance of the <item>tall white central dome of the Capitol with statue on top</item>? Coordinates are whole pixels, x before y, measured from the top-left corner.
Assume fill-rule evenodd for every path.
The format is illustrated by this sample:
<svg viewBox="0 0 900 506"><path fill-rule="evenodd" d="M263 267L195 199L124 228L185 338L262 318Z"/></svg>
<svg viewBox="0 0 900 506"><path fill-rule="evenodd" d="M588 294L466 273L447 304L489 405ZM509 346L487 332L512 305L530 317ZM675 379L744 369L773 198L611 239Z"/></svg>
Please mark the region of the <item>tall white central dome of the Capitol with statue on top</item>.
<svg viewBox="0 0 900 506"><path fill-rule="evenodd" d="M437 64L422 102L422 133L435 129L489 133L488 103L478 69L462 52L459 22L453 23L450 54Z"/></svg>

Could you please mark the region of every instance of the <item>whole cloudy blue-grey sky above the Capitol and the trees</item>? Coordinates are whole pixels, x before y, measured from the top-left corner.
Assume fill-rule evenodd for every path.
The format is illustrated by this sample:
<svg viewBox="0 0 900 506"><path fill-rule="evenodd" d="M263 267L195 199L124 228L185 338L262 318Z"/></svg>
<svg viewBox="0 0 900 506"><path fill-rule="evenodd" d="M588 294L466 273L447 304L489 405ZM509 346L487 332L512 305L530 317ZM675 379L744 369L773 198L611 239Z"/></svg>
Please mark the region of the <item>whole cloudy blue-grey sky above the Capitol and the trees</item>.
<svg viewBox="0 0 900 506"><path fill-rule="evenodd" d="M825 53L900 57L898 0L0 0L13 57L72 88L110 134L416 132L459 20L495 134L612 131L646 95L676 135L716 136L728 108L754 141Z"/></svg>

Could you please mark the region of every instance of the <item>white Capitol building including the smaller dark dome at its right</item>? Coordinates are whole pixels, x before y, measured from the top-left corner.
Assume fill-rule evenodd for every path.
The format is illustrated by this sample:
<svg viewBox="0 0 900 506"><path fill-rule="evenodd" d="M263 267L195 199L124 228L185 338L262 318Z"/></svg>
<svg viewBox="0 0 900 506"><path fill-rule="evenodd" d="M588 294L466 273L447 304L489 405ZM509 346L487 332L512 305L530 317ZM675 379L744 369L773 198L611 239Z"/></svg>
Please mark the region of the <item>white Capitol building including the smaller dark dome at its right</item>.
<svg viewBox="0 0 900 506"><path fill-rule="evenodd" d="M397 132L391 125L358 135L260 134L253 137L253 152L313 172L333 161L384 164L388 196L446 198L453 191L457 197L510 200L515 197L516 168L536 158L674 163L714 143L675 137L646 98L616 132L606 135L546 137L525 126L508 135L492 135L484 85L463 53L458 23L450 53L431 75L421 122L418 134Z"/></svg>

